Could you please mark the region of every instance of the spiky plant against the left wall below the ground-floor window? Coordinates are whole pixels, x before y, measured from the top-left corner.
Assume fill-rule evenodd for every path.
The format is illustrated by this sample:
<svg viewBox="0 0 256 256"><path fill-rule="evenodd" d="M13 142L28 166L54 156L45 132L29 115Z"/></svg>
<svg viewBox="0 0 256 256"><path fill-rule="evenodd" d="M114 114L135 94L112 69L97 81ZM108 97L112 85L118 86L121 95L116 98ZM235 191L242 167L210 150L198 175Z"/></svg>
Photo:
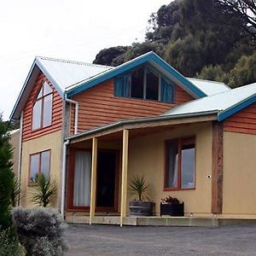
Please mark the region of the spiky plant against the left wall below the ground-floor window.
<svg viewBox="0 0 256 256"><path fill-rule="evenodd" d="M32 202L40 207L47 207L54 201L57 195L57 186L54 181L50 181L43 173L38 175L38 184L32 191Z"/></svg>

